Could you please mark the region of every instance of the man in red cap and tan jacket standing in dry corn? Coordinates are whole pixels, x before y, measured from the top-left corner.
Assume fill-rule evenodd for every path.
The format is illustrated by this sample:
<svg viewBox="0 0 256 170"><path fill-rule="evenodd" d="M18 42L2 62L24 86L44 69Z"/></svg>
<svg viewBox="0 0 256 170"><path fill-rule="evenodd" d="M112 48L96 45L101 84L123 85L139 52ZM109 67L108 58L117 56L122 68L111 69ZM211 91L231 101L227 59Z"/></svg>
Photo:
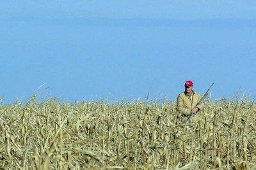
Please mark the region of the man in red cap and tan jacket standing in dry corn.
<svg viewBox="0 0 256 170"><path fill-rule="evenodd" d="M184 86L185 91L179 94L177 98L177 111L182 113L184 117L190 117L198 113L198 111L202 111L204 104L198 104L201 96L197 92L194 92L192 81L186 81Z"/></svg>

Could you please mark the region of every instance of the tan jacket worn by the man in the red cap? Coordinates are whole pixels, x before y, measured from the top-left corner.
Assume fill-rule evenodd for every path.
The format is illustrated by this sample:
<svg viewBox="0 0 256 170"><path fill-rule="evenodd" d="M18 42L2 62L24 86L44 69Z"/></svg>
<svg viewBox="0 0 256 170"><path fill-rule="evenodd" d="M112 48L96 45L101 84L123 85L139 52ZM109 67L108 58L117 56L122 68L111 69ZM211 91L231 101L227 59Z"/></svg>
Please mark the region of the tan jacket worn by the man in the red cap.
<svg viewBox="0 0 256 170"><path fill-rule="evenodd" d="M195 108L196 104L200 101L201 96L193 91L193 96L191 98L185 92L179 94L177 98L177 111L185 115L190 115L190 111ZM196 107L202 111L204 109L204 104L199 104Z"/></svg>

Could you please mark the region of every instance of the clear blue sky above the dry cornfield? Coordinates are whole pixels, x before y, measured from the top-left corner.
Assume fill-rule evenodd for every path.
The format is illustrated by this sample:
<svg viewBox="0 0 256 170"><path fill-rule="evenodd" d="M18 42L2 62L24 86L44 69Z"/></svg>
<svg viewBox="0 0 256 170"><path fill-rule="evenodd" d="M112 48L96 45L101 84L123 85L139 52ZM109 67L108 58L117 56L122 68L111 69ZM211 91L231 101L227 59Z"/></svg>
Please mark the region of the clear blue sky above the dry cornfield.
<svg viewBox="0 0 256 170"><path fill-rule="evenodd" d="M256 97L256 1L1 1L0 37L4 103Z"/></svg>

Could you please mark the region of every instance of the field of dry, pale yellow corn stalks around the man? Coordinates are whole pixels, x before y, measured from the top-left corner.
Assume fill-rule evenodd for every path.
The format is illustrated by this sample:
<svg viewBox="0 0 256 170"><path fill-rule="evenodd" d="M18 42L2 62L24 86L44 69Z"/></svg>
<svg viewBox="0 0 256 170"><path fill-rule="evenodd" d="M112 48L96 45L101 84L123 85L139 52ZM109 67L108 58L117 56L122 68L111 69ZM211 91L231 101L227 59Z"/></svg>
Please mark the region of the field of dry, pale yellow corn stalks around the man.
<svg viewBox="0 0 256 170"><path fill-rule="evenodd" d="M63 104L0 109L4 169L255 169L256 105L205 104L193 121L175 103Z"/></svg>

